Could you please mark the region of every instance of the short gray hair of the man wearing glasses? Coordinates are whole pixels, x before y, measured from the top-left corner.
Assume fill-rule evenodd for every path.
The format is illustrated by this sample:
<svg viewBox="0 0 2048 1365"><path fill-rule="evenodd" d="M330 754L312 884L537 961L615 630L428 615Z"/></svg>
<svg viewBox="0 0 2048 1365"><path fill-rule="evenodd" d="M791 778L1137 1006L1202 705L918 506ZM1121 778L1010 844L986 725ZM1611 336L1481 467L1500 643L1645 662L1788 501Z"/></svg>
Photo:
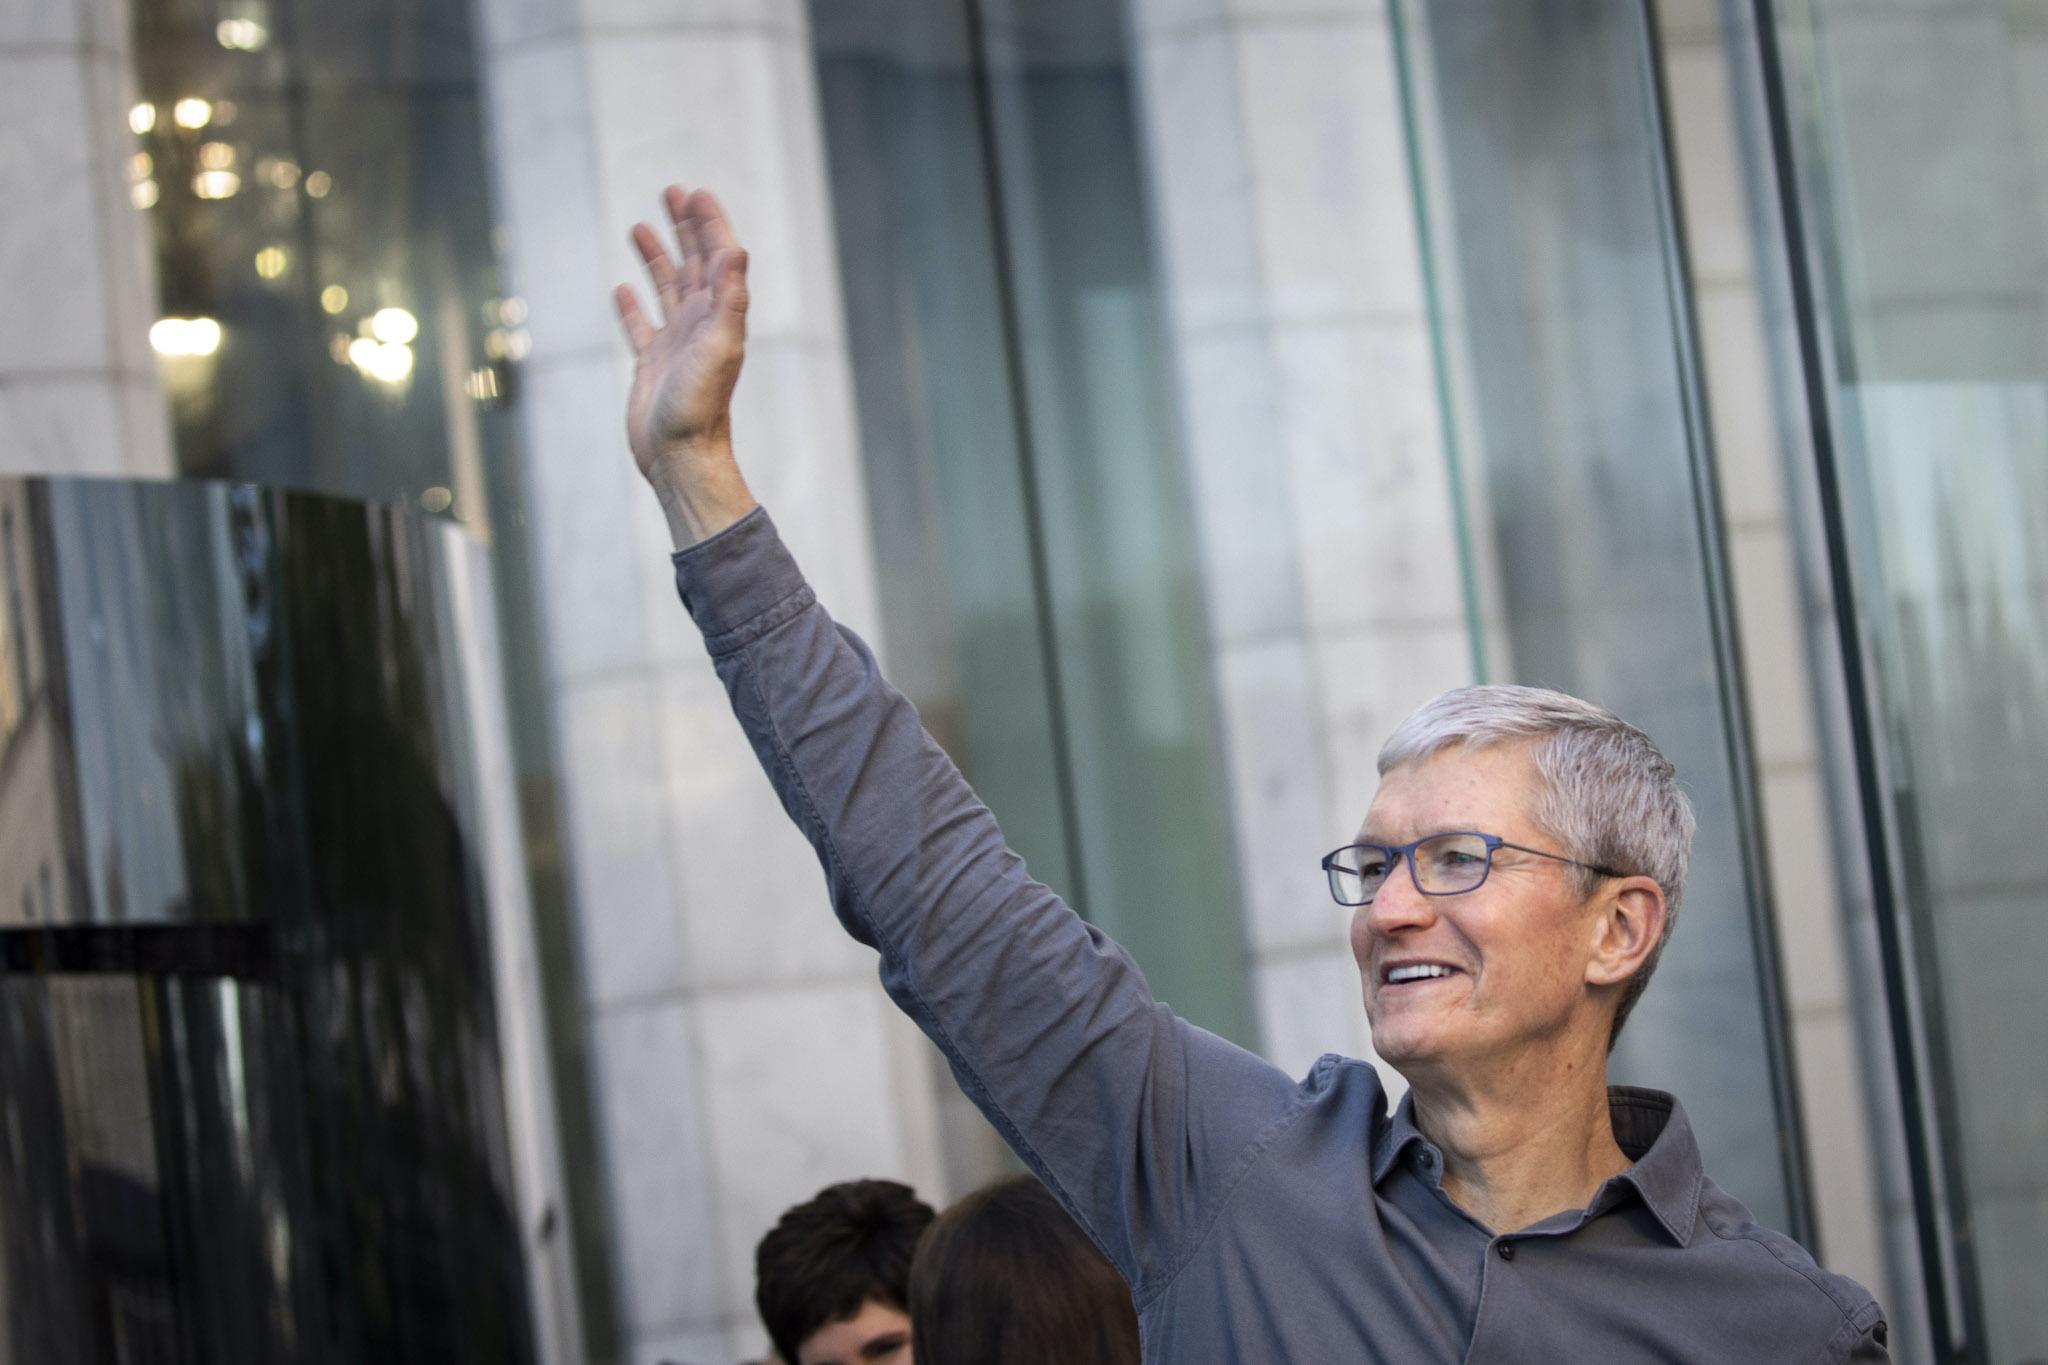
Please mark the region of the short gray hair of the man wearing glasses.
<svg viewBox="0 0 2048 1365"><path fill-rule="evenodd" d="M1534 741L1542 794L1530 819L1579 862L1653 878L1665 894L1665 927L1657 948L1622 986L1608 1050L1651 984L1663 958L1692 862L1692 802L1651 737L1604 706L1546 688L1485 686L1444 692L1403 720L1380 747L1380 776L1454 745L1485 749ZM1581 896L1599 874L1575 868Z"/></svg>

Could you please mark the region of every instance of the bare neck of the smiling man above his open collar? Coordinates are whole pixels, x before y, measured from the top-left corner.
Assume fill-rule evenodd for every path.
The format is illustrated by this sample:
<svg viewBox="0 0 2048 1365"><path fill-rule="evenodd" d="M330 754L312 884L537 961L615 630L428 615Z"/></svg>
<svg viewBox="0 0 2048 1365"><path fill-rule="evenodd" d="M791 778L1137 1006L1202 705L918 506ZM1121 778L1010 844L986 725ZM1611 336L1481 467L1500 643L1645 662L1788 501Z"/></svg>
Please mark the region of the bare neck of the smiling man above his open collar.
<svg viewBox="0 0 2048 1365"><path fill-rule="evenodd" d="M1444 1193L1493 1232L1585 1207L1628 1169L1606 1058L1415 1078L1415 1126L1444 1152Z"/></svg>

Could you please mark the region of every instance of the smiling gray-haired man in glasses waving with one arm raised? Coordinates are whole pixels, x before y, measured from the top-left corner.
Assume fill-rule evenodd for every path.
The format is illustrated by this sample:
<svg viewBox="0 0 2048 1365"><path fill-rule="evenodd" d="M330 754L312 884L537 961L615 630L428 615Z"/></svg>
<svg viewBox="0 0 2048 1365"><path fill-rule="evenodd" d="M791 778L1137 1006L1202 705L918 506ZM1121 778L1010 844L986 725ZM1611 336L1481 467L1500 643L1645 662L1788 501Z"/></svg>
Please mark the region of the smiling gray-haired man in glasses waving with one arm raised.
<svg viewBox="0 0 2048 1365"><path fill-rule="evenodd" d="M1647 735L1464 688L1380 751L1352 911L1372 1046L1294 1081L1159 1005L1034 882L817 604L733 458L745 252L666 194L621 287L633 456L739 724L889 995L1130 1285L1147 1361L1882 1361L1860 1285L1700 1169L1606 1058L1671 933L1692 808Z"/></svg>

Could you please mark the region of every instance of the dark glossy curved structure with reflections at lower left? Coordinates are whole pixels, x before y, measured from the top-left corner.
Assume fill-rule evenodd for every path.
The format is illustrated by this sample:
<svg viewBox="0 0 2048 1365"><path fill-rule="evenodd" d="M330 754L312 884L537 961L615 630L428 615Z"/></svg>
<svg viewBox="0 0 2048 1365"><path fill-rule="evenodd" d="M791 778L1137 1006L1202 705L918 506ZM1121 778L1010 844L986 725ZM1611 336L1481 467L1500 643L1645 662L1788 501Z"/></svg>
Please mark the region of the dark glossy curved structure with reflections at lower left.
<svg viewBox="0 0 2048 1365"><path fill-rule="evenodd" d="M0 1361L530 1359L461 532L0 481Z"/></svg>

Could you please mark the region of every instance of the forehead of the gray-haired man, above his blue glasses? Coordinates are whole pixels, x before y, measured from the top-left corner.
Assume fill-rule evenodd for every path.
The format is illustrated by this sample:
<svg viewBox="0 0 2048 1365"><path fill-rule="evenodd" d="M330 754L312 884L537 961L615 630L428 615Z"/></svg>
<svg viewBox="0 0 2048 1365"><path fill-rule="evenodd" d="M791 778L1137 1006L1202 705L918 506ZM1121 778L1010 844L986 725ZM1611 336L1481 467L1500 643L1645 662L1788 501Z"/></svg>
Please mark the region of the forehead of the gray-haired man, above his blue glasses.
<svg viewBox="0 0 2048 1365"><path fill-rule="evenodd" d="M1358 827L1362 843L1407 843L1446 829L1475 829L1516 839L1534 833L1542 794L1536 743L1456 743L1380 774L1378 792Z"/></svg>

